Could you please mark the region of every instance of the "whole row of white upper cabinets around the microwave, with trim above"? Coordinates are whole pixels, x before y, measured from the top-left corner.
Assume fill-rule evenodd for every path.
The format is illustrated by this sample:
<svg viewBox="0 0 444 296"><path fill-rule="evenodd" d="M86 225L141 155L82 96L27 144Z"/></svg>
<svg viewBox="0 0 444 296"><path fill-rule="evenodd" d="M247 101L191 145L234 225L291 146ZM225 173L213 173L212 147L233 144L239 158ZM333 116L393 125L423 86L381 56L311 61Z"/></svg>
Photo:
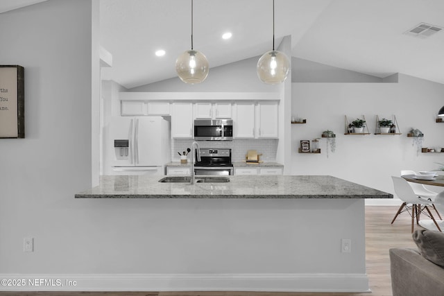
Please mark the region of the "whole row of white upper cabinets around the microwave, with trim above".
<svg viewBox="0 0 444 296"><path fill-rule="evenodd" d="M233 119L234 139L278 139L275 93L120 92L122 116L171 116L173 138L194 137L194 119Z"/></svg>

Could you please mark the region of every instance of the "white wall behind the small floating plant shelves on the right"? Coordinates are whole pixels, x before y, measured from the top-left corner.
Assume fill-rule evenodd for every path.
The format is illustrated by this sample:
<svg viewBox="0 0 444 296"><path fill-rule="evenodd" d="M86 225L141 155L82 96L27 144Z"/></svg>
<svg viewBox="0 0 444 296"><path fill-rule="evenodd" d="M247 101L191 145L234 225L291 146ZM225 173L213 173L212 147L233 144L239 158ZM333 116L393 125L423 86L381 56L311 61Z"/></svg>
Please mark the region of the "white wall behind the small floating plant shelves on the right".
<svg viewBox="0 0 444 296"><path fill-rule="evenodd" d="M444 124L435 122L444 105L444 85L400 74L398 83L293 83L292 92L293 114L307 119L292 126L294 175L334 175L394 193L391 175L432 170L438 168L434 162L444 162L443 153L417 154L407 138L411 128L418 128L425 134L424 146L444 147ZM350 121L363 114L372 134L345 135L344 116ZM393 114L402 135L375 135L375 116ZM335 153L327 157L326 139L321 139L321 155L298 153L300 140L320 138L327 129L336 134Z"/></svg>

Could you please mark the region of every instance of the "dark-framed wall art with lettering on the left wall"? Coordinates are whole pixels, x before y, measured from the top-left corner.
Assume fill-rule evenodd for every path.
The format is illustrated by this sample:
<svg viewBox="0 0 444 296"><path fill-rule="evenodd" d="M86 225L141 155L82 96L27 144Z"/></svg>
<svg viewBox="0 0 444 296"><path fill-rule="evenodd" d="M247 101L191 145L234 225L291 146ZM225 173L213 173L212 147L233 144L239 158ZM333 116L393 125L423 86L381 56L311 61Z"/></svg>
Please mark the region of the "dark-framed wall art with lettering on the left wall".
<svg viewBox="0 0 444 296"><path fill-rule="evenodd" d="M25 137L24 67L0 65L0 138Z"/></svg>

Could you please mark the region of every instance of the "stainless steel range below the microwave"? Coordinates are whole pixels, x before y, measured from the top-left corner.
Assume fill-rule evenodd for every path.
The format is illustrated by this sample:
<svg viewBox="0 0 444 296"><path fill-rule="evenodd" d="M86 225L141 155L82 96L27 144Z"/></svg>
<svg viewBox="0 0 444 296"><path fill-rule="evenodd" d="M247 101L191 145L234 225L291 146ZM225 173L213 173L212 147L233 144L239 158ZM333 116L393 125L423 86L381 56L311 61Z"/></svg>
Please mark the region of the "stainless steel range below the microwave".
<svg viewBox="0 0 444 296"><path fill-rule="evenodd" d="M231 149L200 149L200 162L194 165L194 173L196 175L233 175Z"/></svg>

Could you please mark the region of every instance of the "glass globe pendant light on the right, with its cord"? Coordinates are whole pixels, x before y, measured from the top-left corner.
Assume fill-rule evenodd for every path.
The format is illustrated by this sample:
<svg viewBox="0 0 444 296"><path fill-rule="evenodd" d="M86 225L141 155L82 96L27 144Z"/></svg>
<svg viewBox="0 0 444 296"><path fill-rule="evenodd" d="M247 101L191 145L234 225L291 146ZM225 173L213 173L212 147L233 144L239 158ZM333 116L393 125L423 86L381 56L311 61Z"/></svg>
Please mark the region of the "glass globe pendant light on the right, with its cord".
<svg viewBox="0 0 444 296"><path fill-rule="evenodd" d="M285 53L275 51L275 0L273 0L273 50L257 61L257 76L268 85L278 85L287 78L290 61Z"/></svg>

